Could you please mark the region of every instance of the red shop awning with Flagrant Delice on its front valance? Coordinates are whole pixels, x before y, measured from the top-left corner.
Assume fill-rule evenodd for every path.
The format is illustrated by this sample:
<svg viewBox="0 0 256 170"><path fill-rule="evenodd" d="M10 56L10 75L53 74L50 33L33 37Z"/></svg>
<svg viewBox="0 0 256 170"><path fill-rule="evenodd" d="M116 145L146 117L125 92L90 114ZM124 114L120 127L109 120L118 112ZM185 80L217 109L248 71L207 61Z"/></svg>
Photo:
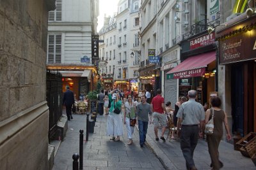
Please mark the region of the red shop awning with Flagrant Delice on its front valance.
<svg viewBox="0 0 256 170"><path fill-rule="evenodd" d="M214 60L216 60L215 51L189 57L166 74L173 74L171 77L174 79L202 76L205 73L205 67Z"/></svg>

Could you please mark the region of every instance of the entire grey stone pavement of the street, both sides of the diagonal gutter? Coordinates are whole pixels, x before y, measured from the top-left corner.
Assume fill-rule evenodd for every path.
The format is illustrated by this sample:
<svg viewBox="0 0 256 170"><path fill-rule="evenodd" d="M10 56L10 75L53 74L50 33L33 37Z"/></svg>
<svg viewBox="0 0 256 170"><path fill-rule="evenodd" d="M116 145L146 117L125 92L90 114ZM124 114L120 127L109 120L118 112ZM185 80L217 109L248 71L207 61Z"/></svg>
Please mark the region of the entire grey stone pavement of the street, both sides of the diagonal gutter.
<svg viewBox="0 0 256 170"><path fill-rule="evenodd" d="M79 153L79 130L86 129L86 115L73 115L68 121L67 136L61 142L54 158L53 170L72 169L72 155ZM155 140L154 126L148 125L147 146L140 148L138 129L134 129L133 145L128 146L127 131L120 142L110 141L106 136L106 121L108 117L97 116L95 133L90 134L89 141L84 142L83 169L186 169L185 160L180 150L179 141ZM159 129L159 136L160 136ZM165 134L165 138L167 136ZM224 163L222 169L255 169L251 159L244 157L233 149L233 145L221 141L220 160ZM194 160L198 169L211 169L211 159L207 143L198 141Z"/></svg>

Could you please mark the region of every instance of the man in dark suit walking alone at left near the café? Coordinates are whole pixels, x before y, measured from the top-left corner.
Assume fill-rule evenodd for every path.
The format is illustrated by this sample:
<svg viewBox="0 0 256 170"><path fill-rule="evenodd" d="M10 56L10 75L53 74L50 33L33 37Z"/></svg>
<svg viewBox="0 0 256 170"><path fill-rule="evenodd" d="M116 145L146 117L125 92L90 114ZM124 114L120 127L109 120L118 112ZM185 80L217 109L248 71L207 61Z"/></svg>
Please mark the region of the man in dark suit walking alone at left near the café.
<svg viewBox="0 0 256 170"><path fill-rule="evenodd" d="M66 92L63 94L63 105L66 107L66 114L68 120L73 119L71 109L72 105L75 103L74 93L69 89L69 86L66 87Z"/></svg>

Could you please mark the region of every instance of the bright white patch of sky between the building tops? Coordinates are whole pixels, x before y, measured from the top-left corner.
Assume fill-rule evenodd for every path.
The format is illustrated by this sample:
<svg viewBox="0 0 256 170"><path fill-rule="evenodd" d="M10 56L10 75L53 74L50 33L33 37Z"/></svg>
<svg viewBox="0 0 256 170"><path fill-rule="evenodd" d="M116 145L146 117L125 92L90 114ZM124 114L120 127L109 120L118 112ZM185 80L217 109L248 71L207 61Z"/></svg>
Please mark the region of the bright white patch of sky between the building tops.
<svg viewBox="0 0 256 170"><path fill-rule="evenodd" d="M99 10L100 15L98 17L98 27L97 32L103 27L104 24L104 14L108 17L109 15L112 16L113 13L117 11L117 4L119 0L100 0L99 1Z"/></svg>

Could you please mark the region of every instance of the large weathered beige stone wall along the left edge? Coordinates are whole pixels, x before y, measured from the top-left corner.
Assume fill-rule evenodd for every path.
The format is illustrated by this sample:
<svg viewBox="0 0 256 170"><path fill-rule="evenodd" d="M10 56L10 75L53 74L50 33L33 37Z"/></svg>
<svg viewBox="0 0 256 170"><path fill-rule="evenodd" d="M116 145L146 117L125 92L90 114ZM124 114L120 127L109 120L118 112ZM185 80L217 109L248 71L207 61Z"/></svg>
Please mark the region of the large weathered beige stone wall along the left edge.
<svg viewBox="0 0 256 170"><path fill-rule="evenodd" d="M0 0L1 169L47 169L47 17L54 0Z"/></svg>

